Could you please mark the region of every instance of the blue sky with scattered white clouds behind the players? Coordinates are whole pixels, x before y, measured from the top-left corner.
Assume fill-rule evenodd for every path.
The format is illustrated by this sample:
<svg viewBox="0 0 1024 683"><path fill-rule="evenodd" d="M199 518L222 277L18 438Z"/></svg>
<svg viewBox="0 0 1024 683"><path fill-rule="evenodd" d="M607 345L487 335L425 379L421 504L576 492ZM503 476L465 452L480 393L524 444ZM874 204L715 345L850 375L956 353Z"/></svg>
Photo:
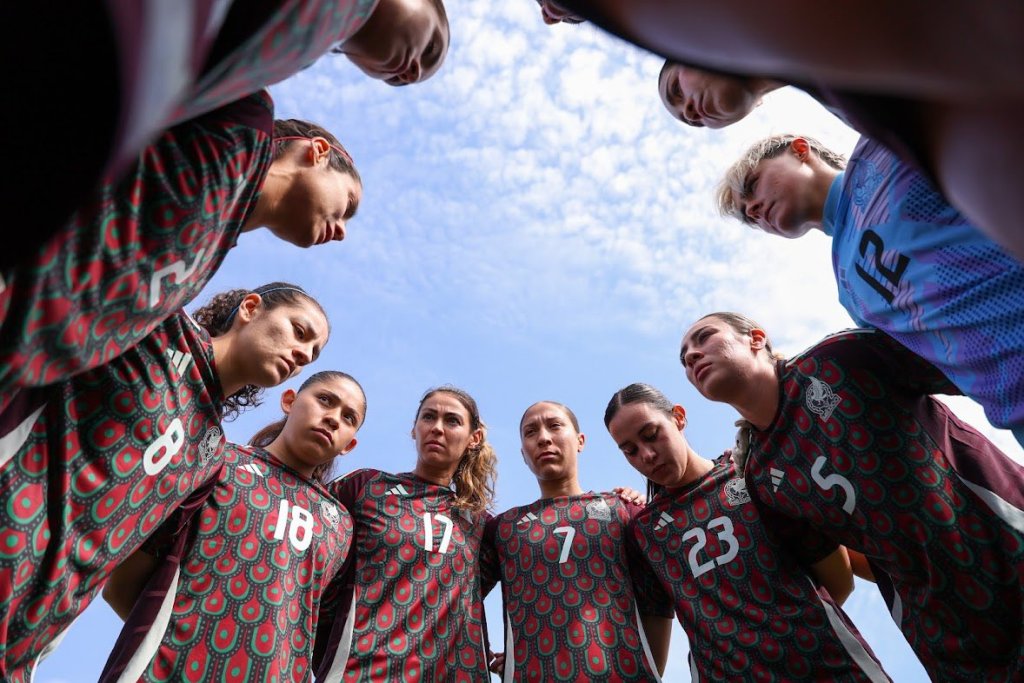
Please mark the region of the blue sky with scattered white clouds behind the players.
<svg viewBox="0 0 1024 683"><path fill-rule="evenodd" d="M365 181L359 213L343 243L309 250L265 230L243 236L197 304L276 280L321 300L333 334L307 374L351 373L369 399L338 473L412 469L416 405L442 383L480 404L501 461L497 511L538 497L517 434L537 400L580 417L586 488L643 488L602 423L631 382L682 403L689 441L721 453L735 416L687 384L677 359L685 328L738 310L796 353L851 322L823 236L790 242L721 218L714 185L764 135L810 134L848 154L856 134L797 91L773 93L729 129L688 128L662 109L657 57L590 26L546 27L532 0L446 4L451 51L425 84L391 88L332 55L271 88L280 118L316 121L351 152ZM244 441L276 419L280 391L229 423L228 437ZM950 403L1024 459L977 404ZM498 591L486 603L496 646L500 603ZM894 680L927 680L870 584L858 580L846 609ZM119 629L97 600L37 680L94 680ZM677 626L666 681L688 680L686 652Z"/></svg>

